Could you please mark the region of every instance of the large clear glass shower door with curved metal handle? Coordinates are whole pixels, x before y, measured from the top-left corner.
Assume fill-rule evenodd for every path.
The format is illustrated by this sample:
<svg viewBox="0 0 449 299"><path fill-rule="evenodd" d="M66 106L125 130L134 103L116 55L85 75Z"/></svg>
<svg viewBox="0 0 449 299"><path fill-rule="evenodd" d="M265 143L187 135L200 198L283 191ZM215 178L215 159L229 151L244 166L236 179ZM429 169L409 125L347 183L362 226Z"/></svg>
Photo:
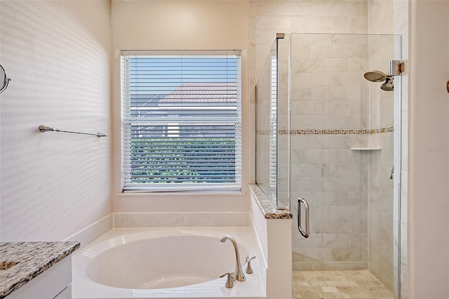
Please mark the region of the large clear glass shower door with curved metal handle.
<svg viewBox="0 0 449 299"><path fill-rule="evenodd" d="M279 168L288 164L286 190L293 201L307 199L310 213L309 239L293 230L293 270L370 270L393 291L399 218L390 174L400 79L387 82L398 91L385 91L386 82L370 82L363 74L388 74L389 61L401 60L400 36L290 38L290 152L285 156L291 160L281 154ZM297 206L292 208L296 215Z"/></svg>

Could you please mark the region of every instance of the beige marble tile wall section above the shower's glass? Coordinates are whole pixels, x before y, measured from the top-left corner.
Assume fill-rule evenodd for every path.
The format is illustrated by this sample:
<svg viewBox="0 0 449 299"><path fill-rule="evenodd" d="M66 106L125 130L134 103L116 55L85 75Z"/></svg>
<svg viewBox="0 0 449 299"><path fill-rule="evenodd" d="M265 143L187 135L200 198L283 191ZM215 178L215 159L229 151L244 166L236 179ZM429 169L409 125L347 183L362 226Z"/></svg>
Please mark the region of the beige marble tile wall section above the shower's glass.
<svg viewBox="0 0 449 299"><path fill-rule="evenodd" d="M367 1L250 0L250 77L255 86L276 32L368 32Z"/></svg>

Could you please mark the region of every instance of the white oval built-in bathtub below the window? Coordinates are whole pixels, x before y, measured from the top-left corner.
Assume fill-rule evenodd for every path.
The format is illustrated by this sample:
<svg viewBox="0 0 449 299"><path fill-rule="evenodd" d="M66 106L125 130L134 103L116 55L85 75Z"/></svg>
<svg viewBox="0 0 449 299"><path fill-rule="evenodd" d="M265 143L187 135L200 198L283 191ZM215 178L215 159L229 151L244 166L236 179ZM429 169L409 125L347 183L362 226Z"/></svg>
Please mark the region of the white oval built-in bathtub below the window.
<svg viewBox="0 0 449 299"><path fill-rule="evenodd" d="M226 288L241 262L256 254L249 227L114 229L72 258L72 298L267 298L263 266ZM246 267L243 267L245 270Z"/></svg>

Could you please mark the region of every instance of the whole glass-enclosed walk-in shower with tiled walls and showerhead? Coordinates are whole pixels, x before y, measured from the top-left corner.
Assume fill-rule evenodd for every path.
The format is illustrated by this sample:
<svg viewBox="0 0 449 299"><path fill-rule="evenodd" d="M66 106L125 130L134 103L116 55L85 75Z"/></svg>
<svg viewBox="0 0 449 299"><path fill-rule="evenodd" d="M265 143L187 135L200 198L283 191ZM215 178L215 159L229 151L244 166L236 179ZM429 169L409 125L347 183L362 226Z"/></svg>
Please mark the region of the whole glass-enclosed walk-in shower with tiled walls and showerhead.
<svg viewBox="0 0 449 299"><path fill-rule="evenodd" d="M397 35L276 36L256 86L256 181L294 217L309 204L293 270L370 270L397 296L401 66Z"/></svg>

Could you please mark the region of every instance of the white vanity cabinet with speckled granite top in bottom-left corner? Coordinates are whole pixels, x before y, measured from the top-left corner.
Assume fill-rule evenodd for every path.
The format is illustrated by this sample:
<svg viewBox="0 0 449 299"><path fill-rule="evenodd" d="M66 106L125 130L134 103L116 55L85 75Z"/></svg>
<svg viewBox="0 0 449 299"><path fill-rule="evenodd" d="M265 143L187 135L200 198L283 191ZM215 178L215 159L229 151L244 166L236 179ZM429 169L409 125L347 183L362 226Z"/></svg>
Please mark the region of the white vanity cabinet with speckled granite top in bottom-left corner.
<svg viewBox="0 0 449 299"><path fill-rule="evenodd" d="M79 241L0 242L0 299L72 298Z"/></svg>

